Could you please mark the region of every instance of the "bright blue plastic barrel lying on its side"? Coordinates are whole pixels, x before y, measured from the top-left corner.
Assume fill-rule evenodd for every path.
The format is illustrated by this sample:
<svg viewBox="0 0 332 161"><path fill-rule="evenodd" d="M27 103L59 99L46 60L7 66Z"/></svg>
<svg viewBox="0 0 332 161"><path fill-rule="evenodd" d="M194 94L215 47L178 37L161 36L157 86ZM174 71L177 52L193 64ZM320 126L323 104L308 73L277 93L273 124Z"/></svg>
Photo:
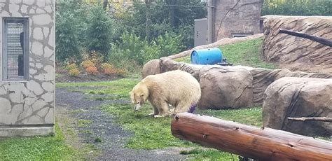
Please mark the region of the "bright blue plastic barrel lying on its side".
<svg viewBox="0 0 332 161"><path fill-rule="evenodd" d="M223 59L223 55L219 48L207 48L191 52L191 64L217 64L221 62L221 59Z"/></svg>

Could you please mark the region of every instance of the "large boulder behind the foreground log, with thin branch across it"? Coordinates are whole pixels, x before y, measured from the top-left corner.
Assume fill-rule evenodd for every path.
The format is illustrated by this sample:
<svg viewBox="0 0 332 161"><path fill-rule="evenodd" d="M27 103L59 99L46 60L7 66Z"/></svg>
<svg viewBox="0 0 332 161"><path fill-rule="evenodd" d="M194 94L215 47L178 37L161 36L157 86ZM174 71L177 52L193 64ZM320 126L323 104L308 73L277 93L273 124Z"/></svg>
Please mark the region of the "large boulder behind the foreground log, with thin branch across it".
<svg viewBox="0 0 332 161"><path fill-rule="evenodd" d="M305 135L332 135L332 124L288 118L332 118L332 79L279 78L265 90L263 125Z"/></svg>

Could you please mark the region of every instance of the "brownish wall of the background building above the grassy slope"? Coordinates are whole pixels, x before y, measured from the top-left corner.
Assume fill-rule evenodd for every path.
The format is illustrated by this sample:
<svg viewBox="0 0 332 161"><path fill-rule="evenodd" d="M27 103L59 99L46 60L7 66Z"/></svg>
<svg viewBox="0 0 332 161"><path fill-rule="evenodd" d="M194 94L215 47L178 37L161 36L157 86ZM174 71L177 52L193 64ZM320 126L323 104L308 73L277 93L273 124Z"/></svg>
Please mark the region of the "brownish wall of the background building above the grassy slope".
<svg viewBox="0 0 332 161"><path fill-rule="evenodd" d="M263 0L214 1L214 41L233 34L260 33L259 20Z"/></svg>

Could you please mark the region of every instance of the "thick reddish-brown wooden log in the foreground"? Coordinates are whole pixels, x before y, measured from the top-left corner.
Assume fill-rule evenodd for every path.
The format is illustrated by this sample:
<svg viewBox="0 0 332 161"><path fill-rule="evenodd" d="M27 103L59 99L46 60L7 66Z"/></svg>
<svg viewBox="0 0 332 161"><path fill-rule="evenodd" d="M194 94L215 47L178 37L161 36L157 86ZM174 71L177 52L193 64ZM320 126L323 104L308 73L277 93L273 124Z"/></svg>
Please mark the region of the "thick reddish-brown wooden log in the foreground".
<svg viewBox="0 0 332 161"><path fill-rule="evenodd" d="M209 116L177 113L171 130L179 139L258 160L332 160L329 141Z"/></svg>

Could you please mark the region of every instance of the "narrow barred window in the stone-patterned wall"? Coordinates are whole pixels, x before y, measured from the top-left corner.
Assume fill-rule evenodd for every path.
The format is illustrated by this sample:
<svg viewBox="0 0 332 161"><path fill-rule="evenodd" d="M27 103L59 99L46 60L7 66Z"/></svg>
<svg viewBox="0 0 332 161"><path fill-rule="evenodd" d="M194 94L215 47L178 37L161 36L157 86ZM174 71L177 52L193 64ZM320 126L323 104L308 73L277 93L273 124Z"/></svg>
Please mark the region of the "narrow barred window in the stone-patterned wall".
<svg viewBox="0 0 332 161"><path fill-rule="evenodd" d="M28 59L27 18L4 18L3 63L4 80L27 80Z"/></svg>

